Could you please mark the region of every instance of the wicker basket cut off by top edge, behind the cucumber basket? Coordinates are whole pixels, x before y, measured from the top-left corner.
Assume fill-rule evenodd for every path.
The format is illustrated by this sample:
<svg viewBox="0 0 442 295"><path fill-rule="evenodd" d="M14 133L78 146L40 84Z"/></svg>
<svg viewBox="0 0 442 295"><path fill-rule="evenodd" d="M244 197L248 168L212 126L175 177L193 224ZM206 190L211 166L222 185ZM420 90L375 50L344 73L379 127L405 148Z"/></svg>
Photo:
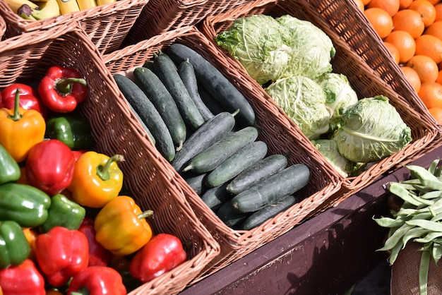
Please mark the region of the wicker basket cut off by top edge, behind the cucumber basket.
<svg viewBox="0 0 442 295"><path fill-rule="evenodd" d="M251 0L150 0L133 24L125 43L135 44L167 30L196 25L206 16L249 2Z"/></svg>

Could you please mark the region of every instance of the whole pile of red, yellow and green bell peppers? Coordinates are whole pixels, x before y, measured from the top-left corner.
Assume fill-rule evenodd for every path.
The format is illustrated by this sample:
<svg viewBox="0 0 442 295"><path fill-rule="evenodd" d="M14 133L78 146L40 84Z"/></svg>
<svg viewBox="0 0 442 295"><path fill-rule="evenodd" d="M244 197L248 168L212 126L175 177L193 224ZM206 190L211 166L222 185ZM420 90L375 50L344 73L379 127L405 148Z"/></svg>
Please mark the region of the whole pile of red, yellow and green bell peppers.
<svg viewBox="0 0 442 295"><path fill-rule="evenodd" d="M187 259L124 192L124 157L93 150L86 82L52 66L0 92L0 295L127 294Z"/></svg>

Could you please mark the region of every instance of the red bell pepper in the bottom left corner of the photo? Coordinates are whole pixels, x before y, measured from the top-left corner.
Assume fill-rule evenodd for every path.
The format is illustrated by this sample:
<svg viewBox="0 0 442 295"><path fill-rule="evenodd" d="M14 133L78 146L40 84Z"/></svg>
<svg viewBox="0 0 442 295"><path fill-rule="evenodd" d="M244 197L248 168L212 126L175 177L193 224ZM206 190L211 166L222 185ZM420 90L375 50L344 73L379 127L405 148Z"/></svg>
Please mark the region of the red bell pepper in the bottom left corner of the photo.
<svg viewBox="0 0 442 295"><path fill-rule="evenodd" d="M30 259L0 270L0 286L4 295L46 294L44 278Z"/></svg>

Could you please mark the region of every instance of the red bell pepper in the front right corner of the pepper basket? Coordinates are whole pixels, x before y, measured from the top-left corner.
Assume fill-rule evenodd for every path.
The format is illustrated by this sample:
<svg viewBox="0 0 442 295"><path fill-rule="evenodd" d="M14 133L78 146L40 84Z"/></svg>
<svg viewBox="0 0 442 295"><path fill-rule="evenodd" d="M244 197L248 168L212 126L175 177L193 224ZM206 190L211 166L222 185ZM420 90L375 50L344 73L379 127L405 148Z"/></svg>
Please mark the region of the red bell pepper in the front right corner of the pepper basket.
<svg viewBox="0 0 442 295"><path fill-rule="evenodd" d="M149 282L186 261L183 244L172 234L157 234L136 253L129 265L131 275Z"/></svg>

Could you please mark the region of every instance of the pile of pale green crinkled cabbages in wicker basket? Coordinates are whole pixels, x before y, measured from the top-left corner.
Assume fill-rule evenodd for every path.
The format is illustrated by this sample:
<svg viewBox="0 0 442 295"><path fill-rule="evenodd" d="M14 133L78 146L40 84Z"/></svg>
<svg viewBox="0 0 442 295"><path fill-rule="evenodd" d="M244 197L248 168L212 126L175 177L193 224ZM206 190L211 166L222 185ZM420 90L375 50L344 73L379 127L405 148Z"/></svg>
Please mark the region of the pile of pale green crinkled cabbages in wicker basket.
<svg viewBox="0 0 442 295"><path fill-rule="evenodd" d="M237 18L215 42L246 68L342 176L357 176L367 164L412 141L410 127L388 97L358 100L347 77L332 72L333 42L309 21L289 15Z"/></svg>

